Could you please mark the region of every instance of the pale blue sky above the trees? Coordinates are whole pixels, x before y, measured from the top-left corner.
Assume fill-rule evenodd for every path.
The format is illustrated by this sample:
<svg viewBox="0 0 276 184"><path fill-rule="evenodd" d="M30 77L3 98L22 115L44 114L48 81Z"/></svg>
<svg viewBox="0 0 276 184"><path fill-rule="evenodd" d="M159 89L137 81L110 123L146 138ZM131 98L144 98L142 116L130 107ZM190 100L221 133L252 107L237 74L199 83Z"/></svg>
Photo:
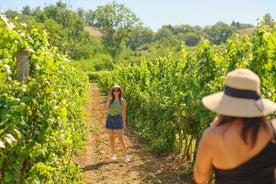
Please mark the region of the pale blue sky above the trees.
<svg viewBox="0 0 276 184"><path fill-rule="evenodd" d="M62 0L76 10L96 10L98 6L113 0ZM58 0L0 0L0 11L8 9L21 11L23 6L41 8L55 4ZM162 25L189 24L205 27L222 21L230 24L233 20L240 23L257 25L258 19L270 13L276 20L276 0L116 0L124 4L145 26L154 31Z"/></svg>

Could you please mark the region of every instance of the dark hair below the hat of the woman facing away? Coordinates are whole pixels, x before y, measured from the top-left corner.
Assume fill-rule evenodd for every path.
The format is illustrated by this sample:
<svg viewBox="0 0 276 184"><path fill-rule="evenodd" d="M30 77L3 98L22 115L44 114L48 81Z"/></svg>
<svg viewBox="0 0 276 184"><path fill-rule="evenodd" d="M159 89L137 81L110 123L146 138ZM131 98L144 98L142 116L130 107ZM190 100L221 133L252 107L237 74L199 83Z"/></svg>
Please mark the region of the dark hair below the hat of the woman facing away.
<svg viewBox="0 0 276 184"><path fill-rule="evenodd" d="M227 124L232 122L236 119L241 119L243 122L242 131L241 131L241 138L242 140L251 147L254 147L257 136L258 130L261 126L265 127L266 118L265 117L256 117L256 118L242 118L242 117L231 117L231 116L224 116L221 115L221 121L219 122L218 126Z"/></svg>

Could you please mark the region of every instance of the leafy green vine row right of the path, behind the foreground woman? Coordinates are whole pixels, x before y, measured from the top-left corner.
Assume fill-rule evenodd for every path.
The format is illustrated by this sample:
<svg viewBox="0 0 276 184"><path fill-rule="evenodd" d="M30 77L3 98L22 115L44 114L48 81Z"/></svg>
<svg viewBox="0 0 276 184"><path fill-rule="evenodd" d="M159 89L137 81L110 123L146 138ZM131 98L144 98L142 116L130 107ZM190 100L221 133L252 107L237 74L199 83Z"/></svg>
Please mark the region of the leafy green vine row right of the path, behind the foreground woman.
<svg viewBox="0 0 276 184"><path fill-rule="evenodd" d="M252 40L234 34L217 46L202 39L192 50L182 46L167 56L143 59L140 65L116 65L99 79L100 87L124 87L128 122L149 150L184 153L193 161L202 132L215 116L200 100L223 90L227 72L252 69L261 77L263 96L276 101L275 39L276 29L269 26L257 27Z"/></svg>

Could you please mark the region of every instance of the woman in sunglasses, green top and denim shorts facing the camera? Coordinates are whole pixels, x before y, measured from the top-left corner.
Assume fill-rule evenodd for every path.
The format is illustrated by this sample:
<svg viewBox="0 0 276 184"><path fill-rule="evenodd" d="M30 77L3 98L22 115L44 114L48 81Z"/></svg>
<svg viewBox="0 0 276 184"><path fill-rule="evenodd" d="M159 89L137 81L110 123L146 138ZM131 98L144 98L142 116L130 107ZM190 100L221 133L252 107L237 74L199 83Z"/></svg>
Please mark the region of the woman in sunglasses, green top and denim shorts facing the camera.
<svg viewBox="0 0 276 184"><path fill-rule="evenodd" d="M126 128L126 100L122 97L123 89L119 85L114 85L109 93L106 107L108 109L108 115L106 118L105 128L109 135L109 141L111 146L112 157L111 160L116 160L115 154L115 132L122 146L125 163L130 162L127 155L127 148L123 139L123 131Z"/></svg>

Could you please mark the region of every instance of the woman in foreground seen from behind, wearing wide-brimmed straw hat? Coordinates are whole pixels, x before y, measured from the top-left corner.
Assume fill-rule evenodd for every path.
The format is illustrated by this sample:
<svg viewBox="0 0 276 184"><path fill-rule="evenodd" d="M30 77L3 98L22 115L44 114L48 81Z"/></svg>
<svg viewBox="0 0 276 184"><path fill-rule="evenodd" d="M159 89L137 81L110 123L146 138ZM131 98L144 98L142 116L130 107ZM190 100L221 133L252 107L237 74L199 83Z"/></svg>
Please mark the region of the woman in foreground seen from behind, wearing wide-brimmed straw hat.
<svg viewBox="0 0 276 184"><path fill-rule="evenodd" d="M259 77L249 69L229 72L223 92L203 105L218 114L205 130L193 169L196 183L275 184L276 131L266 116L276 104L261 96Z"/></svg>

